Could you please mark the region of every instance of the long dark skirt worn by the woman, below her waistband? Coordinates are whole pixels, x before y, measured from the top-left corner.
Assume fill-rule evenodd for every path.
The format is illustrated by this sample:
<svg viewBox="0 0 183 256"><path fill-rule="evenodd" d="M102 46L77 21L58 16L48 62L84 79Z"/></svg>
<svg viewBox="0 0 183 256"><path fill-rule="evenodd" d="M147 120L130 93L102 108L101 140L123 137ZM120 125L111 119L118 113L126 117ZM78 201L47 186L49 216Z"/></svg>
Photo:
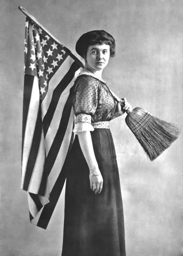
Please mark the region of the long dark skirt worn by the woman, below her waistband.
<svg viewBox="0 0 183 256"><path fill-rule="evenodd" d="M62 256L125 256L119 172L109 129L91 132L103 189L90 189L89 169L76 135L66 179Z"/></svg>

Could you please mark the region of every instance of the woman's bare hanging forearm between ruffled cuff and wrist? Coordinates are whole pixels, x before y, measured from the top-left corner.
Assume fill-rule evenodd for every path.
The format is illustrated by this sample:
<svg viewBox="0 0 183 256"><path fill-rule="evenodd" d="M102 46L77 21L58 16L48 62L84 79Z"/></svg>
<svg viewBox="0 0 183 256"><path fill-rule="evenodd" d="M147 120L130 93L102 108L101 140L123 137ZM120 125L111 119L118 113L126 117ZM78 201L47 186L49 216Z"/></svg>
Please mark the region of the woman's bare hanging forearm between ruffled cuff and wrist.
<svg viewBox="0 0 183 256"><path fill-rule="evenodd" d="M99 174L98 163L93 150L90 131L78 132L78 138L83 155L86 159L91 174Z"/></svg>

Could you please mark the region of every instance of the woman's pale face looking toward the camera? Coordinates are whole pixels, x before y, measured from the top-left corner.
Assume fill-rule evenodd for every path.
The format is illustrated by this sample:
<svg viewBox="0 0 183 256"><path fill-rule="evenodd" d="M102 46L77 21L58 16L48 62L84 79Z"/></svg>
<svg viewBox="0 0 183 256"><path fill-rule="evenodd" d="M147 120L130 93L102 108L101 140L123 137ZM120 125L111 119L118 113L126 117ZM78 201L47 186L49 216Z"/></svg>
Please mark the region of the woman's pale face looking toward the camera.
<svg viewBox="0 0 183 256"><path fill-rule="evenodd" d="M95 70L103 70L110 57L110 46L107 44L94 44L88 47L86 53L87 64Z"/></svg>

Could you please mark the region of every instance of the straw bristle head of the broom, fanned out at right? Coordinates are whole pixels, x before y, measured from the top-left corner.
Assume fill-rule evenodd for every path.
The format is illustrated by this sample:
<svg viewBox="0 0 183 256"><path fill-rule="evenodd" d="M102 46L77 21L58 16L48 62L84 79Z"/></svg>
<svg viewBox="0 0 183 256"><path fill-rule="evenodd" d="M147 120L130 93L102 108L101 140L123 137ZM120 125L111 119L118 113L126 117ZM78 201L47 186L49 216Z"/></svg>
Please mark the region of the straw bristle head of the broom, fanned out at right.
<svg viewBox="0 0 183 256"><path fill-rule="evenodd" d="M168 148L180 134L176 124L152 116L142 108L133 109L125 121L151 161Z"/></svg>

